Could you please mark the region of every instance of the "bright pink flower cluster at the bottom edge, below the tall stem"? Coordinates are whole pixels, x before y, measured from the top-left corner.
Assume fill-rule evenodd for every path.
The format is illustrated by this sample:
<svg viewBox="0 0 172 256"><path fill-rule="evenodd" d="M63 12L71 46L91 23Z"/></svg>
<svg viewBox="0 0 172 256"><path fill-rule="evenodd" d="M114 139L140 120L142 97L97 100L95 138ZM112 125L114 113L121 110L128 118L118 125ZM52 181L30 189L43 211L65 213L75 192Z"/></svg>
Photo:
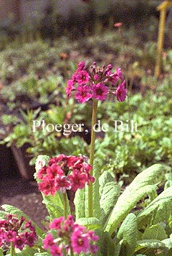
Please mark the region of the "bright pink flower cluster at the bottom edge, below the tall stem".
<svg viewBox="0 0 172 256"><path fill-rule="evenodd" d="M43 243L44 249L49 249L52 256L69 255L71 252L77 255L81 252L95 255L98 250L95 242L99 237L92 230L89 231L86 227L75 224L72 215L67 216L66 220L64 217L54 219L50 224L50 229L57 231L57 238L49 233Z"/></svg>

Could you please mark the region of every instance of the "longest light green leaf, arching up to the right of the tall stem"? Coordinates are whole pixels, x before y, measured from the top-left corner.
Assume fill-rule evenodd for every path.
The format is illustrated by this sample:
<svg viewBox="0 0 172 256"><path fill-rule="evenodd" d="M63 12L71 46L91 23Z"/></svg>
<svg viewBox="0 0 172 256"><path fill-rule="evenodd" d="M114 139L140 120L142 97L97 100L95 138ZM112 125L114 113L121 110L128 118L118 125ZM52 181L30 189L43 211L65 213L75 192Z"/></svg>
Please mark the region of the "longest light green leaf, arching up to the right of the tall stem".
<svg viewBox="0 0 172 256"><path fill-rule="evenodd" d="M163 178L163 169L163 165L156 164L138 174L133 182L130 183L130 186L118 198L113 212L107 221L106 231L113 234L120 222L125 219L138 201L145 198L151 191L156 190L156 184Z"/></svg>

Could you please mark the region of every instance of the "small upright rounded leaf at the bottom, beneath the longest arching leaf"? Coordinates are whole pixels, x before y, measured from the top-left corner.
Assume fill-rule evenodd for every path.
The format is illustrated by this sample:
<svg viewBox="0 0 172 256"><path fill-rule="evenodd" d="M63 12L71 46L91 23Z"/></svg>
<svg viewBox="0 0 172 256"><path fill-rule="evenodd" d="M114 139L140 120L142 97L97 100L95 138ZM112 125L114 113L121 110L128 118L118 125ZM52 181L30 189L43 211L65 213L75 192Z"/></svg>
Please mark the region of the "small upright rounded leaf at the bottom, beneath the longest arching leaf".
<svg viewBox="0 0 172 256"><path fill-rule="evenodd" d="M138 239L137 218L135 214L128 214L117 234L117 239L123 239L122 255L133 255Z"/></svg>

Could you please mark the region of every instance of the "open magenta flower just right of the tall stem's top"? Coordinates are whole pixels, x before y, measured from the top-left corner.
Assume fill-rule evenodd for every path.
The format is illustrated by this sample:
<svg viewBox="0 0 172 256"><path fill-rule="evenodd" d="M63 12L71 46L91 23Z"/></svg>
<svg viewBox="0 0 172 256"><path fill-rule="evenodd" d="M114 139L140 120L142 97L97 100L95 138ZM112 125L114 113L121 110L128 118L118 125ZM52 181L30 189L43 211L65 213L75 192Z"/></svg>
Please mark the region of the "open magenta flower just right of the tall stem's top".
<svg viewBox="0 0 172 256"><path fill-rule="evenodd" d="M100 101L105 101L108 94L108 87L103 83L97 83L92 89L92 98L99 99Z"/></svg>

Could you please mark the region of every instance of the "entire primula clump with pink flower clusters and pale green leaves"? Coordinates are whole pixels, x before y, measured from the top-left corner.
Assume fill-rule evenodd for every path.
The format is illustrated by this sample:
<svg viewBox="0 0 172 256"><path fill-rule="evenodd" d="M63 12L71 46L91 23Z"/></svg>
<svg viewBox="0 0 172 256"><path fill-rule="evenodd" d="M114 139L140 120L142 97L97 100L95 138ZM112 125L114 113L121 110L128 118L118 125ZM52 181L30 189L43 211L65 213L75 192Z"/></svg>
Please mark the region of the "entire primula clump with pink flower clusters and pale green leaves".
<svg viewBox="0 0 172 256"><path fill-rule="evenodd" d="M84 62L79 63L67 82L66 93L67 97L74 95L79 103L92 105L90 156L37 157L34 177L49 213L44 221L48 230L45 233L37 224L33 227L22 211L4 205L0 212L1 247L4 250L7 241L6 254L11 256L172 255L170 168L152 165L124 189L115 180L115 173L103 167L102 172L94 154L98 104L108 99L108 94L113 96L111 101L116 99L123 104L128 93L120 68L113 72L112 65L100 68L93 63L88 69ZM15 225L11 219L6 220L6 216L12 218L6 214L16 214L21 219ZM21 228L23 218L28 220ZM26 228L30 230L27 235ZM4 238L6 232L8 239ZM22 242L16 246L15 237L19 236Z"/></svg>

